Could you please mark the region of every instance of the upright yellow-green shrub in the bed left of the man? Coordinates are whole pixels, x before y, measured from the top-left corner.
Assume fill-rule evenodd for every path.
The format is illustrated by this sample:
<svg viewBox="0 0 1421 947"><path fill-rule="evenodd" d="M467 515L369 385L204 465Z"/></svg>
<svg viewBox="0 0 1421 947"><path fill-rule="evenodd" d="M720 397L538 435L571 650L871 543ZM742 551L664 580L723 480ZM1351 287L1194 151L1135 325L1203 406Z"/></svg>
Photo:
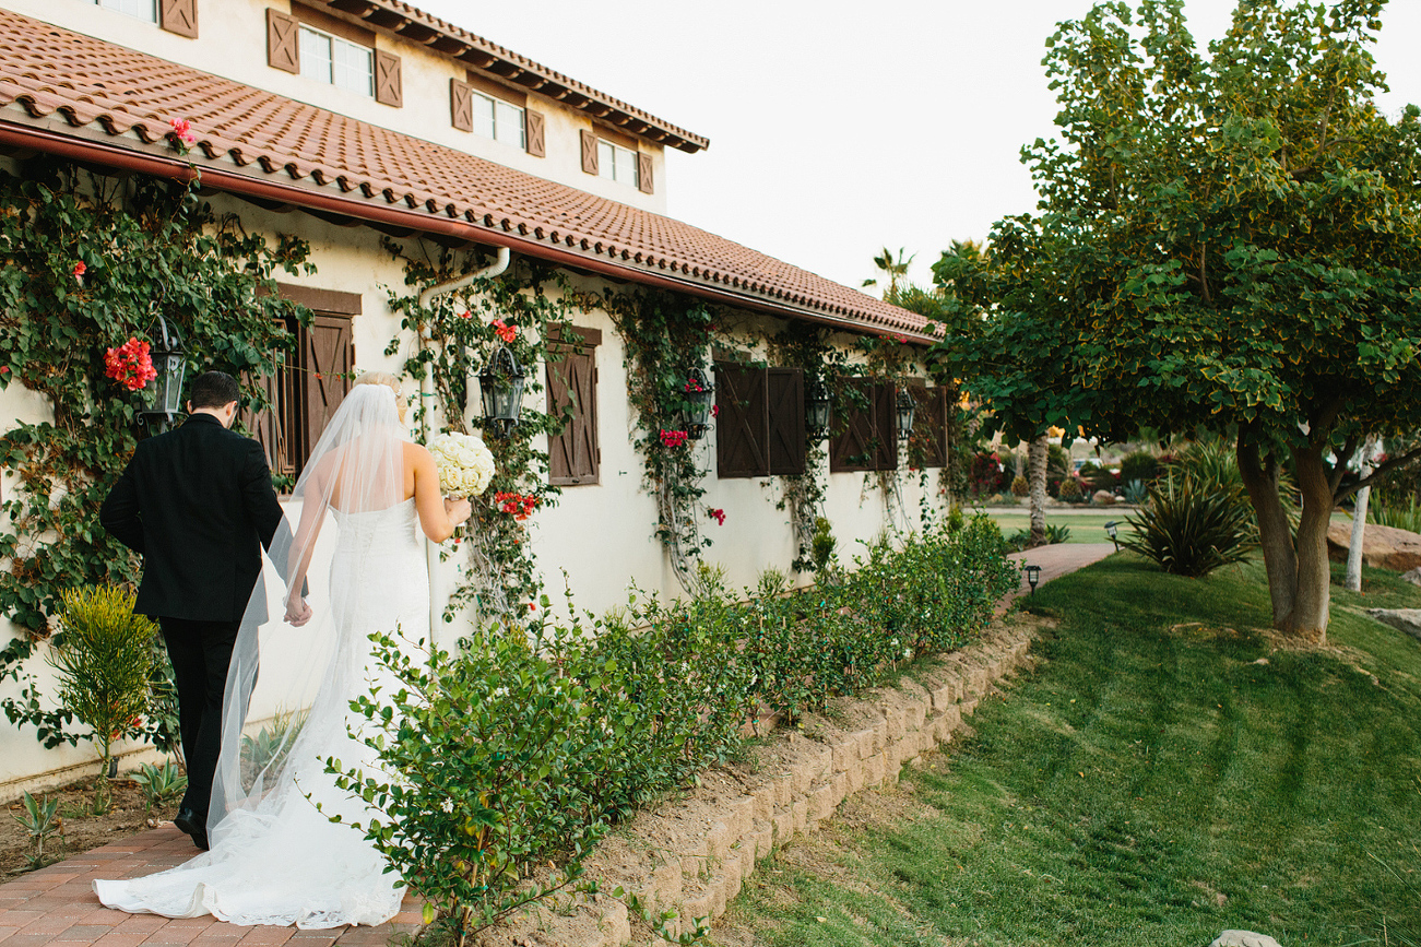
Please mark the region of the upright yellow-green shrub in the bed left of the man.
<svg viewBox="0 0 1421 947"><path fill-rule="evenodd" d="M135 596L114 586L71 589L63 596L63 634L50 663L60 674L60 701L90 728L99 751L94 808L108 805L114 742L142 727L149 710L158 626L134 614Z"/></svg>

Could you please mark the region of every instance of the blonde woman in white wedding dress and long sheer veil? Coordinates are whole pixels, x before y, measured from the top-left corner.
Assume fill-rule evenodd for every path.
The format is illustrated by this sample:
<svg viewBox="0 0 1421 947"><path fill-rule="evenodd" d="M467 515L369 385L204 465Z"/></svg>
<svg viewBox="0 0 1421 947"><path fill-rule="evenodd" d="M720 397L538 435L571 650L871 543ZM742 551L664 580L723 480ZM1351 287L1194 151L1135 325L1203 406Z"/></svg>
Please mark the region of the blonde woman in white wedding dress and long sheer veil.
<svg viewBox="0 0 1421 947"><path fill-rule="evenodd" d="M399 910L398 876L350 825L368 822L371 810L335 786L325 759L378 769L360 739L365 721L350 711L372 687L395 685L372 660L368 636L428 636L429 573L416 523L442 543L470 513L468 501L441 496L433 458L406 439L404 414L394 375L362 374L297 481L300 525L288 550L273 547L273 562L284 559L286 621L303 627L270 620L259 580L227 673L210 850L146 877L94 882L105 906L303 929L381 924ZM307 710L283 715L283 707ZM249 708L287 725L243 737Z"/></svg>

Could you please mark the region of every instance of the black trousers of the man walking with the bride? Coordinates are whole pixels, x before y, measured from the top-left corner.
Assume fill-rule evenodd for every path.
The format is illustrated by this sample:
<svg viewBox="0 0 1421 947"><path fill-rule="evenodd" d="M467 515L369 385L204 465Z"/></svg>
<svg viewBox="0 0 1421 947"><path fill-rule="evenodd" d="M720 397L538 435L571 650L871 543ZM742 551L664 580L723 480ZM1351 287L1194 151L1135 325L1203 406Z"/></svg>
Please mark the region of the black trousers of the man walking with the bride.
<svg viewBox="0 0 1421 947"><path fill-rule="evenodd" d="M222 751L222 692L240 623L159 617L158 624L173 663L178 727L182 755L188 761L188 792L180 808L192 809L199 825L206 825L212 778Z"/></svg>

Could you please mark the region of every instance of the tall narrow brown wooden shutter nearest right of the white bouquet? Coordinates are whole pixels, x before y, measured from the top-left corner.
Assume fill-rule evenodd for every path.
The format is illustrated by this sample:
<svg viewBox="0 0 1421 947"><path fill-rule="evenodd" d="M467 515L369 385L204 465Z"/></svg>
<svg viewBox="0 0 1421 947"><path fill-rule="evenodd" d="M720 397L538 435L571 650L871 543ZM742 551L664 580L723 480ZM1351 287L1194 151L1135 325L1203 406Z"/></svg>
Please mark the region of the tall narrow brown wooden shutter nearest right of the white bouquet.
<svg viewBox="0 0 1421 947"><path fill-rule="evenodd" d="M553 344L547 361L547 411L560 417L568 405L573 419L561 434L550 435L549 483L577 486L601 479L601 448L597 439L597 360L593 348L601 341L595 328L573 327L577 346Z"/></svg>

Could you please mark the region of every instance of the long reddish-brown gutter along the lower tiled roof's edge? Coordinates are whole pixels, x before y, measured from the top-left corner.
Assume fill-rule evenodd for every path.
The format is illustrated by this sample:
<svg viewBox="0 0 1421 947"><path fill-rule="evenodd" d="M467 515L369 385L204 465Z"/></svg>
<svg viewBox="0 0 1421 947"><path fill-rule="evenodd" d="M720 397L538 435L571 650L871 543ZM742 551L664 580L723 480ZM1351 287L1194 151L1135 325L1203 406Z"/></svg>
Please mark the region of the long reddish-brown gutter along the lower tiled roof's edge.
<svg viewBox="0 0 1421 947"><path fill-rule="evenodd" d="M166 158L159 155L149 155L132 148L122 148L118 145L111 145L107 142L87 141L82 138L75 138L72 135L63 135L58 132L30 128L26 125L17 125L9 121L0 121L0 145L11 145L16 148L31 148L36 151L48 152L53 155L60 155L63 158L70 158L72 161L85 161L94 164L108 165L111 168L119 168L124 171L135 171L145 175L153 175L156 178L168 178L171 181L180 181L182 183L190 183L195 179L209 188L216 188L217 191L226 191L229 193L260 198L263 200L277 200L281 203L291 203L301 208L310 208L314 210L325 210L328 213L344 213L351 218L361 220L369 220L375 223L388 223L399 228L409 228L412 230L423 230L426 233L441 233L445 236L453 236L460 240L472 240L475 243L486 243L490 246L507 247L523 253L524 256L537 257L547 260L550 263L560 263L563 266L573 266L583 270L591 270L604 276L612 276L617 279L631 280L635 283L642 283L647 286L657 286L659 289L675 290L678 293L686 293L689 296L698 296L701 299L713 300L718 303L726 303L730 306L739 306L740 309L750 309L772 316L801 319L813 323L820 323L831 328L838 328L848 333L878 334L878 336L904 336L911 341L932 344L936 338L931 336L924 336L921 333L904 333L890 328L874 328L864 326L863 323L855 323L848 319L838 316L830 316L824 313L817 313L814 310L797 309L793 306L784 306L779 303L772 303L766 300L759 300L753 297L739 296L736 293L729 293L713 286L705 286L702 283L695 283L692 280L684 280L675 276L664 276L661 273L651 273L634 266L621 266L611 260L601 260L597 257L581 256L578 253L571 253L568 250L558 249L556 246L549 246L540 243L539 240L530 240L517 233L509 233L503 230L490 230L487 228L475 226L466 220L459 220L455 218L438 218L431 213L423 213L412 209L401 208L382 208L379 205L368 203L364 200L351 200L348 198L340 198L330 193L321 193L317 191L310 191L307 188L300 188L297 185L280 183L276 181L263 181L260 178L253 178L236 171L227 171L225 168L203 166L183 161L180 158Z"/></svg>

